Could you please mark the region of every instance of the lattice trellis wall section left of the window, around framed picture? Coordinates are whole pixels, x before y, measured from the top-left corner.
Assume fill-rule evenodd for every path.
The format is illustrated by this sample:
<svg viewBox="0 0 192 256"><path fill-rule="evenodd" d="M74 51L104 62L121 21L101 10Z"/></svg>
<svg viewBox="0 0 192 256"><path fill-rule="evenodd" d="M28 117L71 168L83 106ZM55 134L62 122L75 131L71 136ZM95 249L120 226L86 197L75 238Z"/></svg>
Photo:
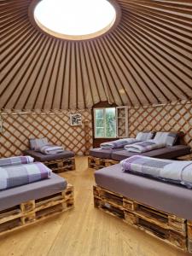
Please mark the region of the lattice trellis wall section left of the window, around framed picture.
<svg viewBox="0 0 192 256"><path fill-rule="evenodd" d="M75 154L86 154L92 145L90 110L82 114L82 126L71 126L67 111L3 111L3 132L0 133L0 156L20 155L28 148L30 137L47 137L49 142L63 145ZM86 136L85 136L86 135Z"/></svg>

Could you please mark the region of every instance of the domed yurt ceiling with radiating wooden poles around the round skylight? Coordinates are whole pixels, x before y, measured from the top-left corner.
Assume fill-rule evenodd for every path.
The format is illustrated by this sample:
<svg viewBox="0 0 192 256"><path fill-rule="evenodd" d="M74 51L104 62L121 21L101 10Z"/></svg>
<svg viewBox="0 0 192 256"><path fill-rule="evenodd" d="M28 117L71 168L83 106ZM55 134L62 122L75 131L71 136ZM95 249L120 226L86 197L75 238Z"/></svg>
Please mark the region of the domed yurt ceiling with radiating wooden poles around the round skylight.
<svg viewBox="0 0 192 256"><path fill-rule="evenodd" d="M192 97L192 1L117 0L119 23L84 41L41 31L28 15L31 3L0 1L0 108L137 106Z"/></svg>

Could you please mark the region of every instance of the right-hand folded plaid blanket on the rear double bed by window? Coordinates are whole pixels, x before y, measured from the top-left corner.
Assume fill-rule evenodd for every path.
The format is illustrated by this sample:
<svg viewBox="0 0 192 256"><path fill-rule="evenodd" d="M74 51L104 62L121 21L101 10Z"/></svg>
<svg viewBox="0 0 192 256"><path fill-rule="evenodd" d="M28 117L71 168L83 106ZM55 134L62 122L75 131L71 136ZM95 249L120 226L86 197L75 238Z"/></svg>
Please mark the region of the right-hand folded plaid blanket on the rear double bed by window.
<svg viewBox="0 0 192 256"><path fill-rule="evenodd" d="M158 143L158 142L155 142L154 140L148 140L146 142L126 145L125 149L130 152L143 153L143 152L148 152L154 149L165 148L165 147L166 147L165 143Z"/></svg>

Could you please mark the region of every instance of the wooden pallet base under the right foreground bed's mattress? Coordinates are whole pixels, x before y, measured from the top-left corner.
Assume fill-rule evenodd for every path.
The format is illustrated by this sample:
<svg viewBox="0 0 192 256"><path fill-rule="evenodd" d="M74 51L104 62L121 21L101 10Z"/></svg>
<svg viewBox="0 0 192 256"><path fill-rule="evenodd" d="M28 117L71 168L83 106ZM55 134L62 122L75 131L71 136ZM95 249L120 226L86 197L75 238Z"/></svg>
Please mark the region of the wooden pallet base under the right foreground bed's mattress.
<svg viewBox="0 0 192 256"><path fill-rule="evenodd" d="M99 186L93 187L94 205L126 224L192 253L192 221L162 212Z"/></svg>

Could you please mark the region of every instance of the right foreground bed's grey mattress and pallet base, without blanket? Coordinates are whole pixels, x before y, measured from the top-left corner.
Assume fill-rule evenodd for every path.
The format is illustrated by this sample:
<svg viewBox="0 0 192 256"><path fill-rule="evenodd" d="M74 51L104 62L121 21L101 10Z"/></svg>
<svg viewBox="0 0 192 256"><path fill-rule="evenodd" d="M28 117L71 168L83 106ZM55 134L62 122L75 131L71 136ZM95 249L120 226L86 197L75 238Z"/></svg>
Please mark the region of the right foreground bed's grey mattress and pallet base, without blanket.
<svg viewBox="0 0 192 256"><path fill-rule="evenodd" d="M122 172L119 164L95 179L95 207L192 253L192 189Z"/></svg>

